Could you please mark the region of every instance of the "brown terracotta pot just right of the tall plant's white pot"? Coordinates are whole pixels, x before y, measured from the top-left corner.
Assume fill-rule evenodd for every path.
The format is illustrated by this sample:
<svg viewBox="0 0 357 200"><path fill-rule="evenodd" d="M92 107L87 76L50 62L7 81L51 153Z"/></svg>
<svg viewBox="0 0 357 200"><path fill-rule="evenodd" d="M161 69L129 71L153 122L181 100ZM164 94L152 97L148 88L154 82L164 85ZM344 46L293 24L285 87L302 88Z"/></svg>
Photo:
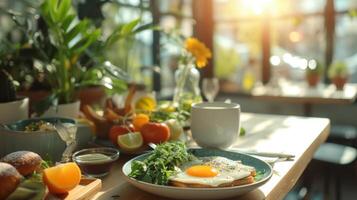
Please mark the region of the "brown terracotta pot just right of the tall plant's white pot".
<svg viewBox="0 0 357 200"><path fill-rule="evenodd" d="M104 105L106 99L105 88L103 86L82 88L78 91L78 98L81 102L81 107L93 104Z"/></svg>

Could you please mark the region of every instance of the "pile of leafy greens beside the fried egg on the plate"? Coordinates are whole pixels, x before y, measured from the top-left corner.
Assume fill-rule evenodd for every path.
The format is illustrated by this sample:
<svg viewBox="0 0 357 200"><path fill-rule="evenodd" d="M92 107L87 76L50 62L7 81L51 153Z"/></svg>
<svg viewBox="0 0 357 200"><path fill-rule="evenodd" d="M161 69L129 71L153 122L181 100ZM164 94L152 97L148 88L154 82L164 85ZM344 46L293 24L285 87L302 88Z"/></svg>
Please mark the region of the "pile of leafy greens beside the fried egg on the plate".
<svg viewBox="0 0 357 200"><path fill-rule="evenodd" d="M167 185L169 177L176 173L176 166L194 159L183 142L166 142L157 145L143 161L134 161L129 177L140 181Z"/></svg>

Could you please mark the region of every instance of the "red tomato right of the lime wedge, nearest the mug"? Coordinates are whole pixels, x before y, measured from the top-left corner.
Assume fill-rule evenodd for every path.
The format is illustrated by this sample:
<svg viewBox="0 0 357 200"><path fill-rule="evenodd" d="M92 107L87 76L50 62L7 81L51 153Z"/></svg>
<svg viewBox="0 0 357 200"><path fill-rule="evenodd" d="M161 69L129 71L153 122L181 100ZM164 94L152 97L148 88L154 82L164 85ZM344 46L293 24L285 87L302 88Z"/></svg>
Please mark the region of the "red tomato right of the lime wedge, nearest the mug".
<svg viewBox="0 0 357 200"><path fill-rule="evenodd" d="M169 140L170 129L164 123L149 122L141 128L141 134L143 135L145 143L161 143Z"/></svg>

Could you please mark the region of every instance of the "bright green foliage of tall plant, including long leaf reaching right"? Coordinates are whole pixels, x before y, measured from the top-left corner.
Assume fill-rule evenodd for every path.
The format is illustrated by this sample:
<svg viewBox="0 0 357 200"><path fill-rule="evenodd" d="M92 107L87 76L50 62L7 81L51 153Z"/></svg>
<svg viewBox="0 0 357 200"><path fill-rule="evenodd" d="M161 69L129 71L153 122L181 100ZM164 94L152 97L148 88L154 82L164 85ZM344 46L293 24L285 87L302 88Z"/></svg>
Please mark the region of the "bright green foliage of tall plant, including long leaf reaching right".
<svg viewBox="0 0 357 200"><path fill-rule="evenodd" d="M81 87L103 85L115 92L126 90L127 73L107 61L105 52L117 41L149 29L151 24L139 25L140 19L135 19L119 25L103 40L100 28L88 19L79 20L70 0L45 1L41 16L56 48L46 74L59 103L75 101L75 92Z"/></svg>

